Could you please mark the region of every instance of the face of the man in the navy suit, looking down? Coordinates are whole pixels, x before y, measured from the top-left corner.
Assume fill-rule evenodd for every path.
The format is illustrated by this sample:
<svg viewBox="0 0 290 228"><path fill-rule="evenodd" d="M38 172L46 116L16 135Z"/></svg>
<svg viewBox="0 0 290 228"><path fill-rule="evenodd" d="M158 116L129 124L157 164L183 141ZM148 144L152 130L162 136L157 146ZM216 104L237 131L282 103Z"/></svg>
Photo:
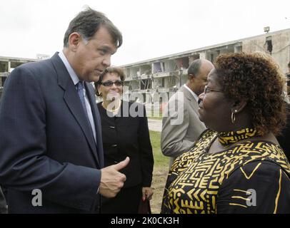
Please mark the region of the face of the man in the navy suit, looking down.
<svg viewBox="0 0 290 228"><path fill-rule="evenodd" d="M116 50L111 34L101 27L89 41L81 39L78 43L72 67L81 80L97 82L101 73L111 65L111 55Z"/></svg>

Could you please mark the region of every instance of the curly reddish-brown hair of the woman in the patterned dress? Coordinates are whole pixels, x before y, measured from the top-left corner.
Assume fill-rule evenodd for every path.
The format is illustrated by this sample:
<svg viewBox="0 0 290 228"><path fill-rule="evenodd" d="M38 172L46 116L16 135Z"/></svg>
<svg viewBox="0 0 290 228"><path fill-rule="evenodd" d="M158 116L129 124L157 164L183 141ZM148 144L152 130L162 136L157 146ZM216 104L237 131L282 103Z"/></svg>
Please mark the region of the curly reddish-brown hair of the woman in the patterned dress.
<svg viewBox="0 0 290 228"><path fill-rule="evenodd" d="M214 63L227 98L244 99L251 123L261 135L279 134L286 123L283 88L285 77L278 64L259 53L227 53Z"/></svg>

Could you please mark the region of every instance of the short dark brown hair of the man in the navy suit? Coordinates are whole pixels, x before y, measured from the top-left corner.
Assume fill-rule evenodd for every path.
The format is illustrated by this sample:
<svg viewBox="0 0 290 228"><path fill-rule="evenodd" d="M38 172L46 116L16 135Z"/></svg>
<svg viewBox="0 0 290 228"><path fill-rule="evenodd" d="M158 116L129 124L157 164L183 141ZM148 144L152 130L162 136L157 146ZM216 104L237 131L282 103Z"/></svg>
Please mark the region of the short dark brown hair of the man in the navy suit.
<svg viewBox="0 0 290 228"><path fill-rule="evenodd" d="M69 27L64 34L64 47L68 47L71 33L80 33L86 41L89 41L101 26L109 31L115 46L119 48L123 43L123 37L119 29L103 13L91 9L89 6L69 23Z"/></svg>

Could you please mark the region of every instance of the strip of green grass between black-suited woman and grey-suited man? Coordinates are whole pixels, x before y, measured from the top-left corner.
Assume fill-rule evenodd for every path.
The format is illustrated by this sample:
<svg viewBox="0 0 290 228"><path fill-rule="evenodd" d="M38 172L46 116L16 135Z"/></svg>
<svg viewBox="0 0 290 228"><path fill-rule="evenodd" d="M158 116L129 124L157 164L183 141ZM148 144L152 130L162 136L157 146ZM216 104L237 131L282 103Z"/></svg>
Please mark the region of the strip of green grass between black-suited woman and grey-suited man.
<svg viewBox="0 0 290 228"><path fill-rule="evenodd" d="M169 157L164 156L160 148L161 133L150 130L150 140L153 149L154 167L169 167Z"/></svg>

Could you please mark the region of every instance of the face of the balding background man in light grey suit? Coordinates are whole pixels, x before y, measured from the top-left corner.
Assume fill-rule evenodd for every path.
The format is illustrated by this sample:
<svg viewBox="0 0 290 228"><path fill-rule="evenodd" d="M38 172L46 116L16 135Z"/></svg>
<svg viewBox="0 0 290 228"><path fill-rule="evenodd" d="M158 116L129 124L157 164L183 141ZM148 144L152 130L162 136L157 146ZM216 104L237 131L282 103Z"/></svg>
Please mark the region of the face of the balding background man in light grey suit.
<svg viewBox="0 0 290 228"><path fill-rule="evenodd" d="M204 86L206 86L207 83L207 76L212 68L214 68L214 66L210 62L203 62L201 63L198 75L192 78L192 88L196 95L204 93Z"/></svg>

